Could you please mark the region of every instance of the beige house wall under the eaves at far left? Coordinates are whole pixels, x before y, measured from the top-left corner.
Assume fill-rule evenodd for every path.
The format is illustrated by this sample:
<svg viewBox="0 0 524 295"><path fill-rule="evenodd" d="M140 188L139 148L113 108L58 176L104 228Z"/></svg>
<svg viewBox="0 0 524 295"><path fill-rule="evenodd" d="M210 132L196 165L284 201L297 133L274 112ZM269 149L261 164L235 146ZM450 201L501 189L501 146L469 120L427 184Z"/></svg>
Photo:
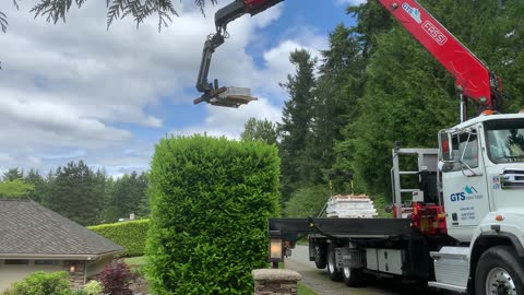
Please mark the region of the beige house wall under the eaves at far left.
<svg viewBox="0 0 524 295"><path fill-rule="evenodd" d="M8 266L5 260L0 260L0 293L9 288L14 282L24 280L36 271L56 272L63 270L63 262L57 262L56 266L37 266L35 260L29 260L28 264Z"/></svg>

